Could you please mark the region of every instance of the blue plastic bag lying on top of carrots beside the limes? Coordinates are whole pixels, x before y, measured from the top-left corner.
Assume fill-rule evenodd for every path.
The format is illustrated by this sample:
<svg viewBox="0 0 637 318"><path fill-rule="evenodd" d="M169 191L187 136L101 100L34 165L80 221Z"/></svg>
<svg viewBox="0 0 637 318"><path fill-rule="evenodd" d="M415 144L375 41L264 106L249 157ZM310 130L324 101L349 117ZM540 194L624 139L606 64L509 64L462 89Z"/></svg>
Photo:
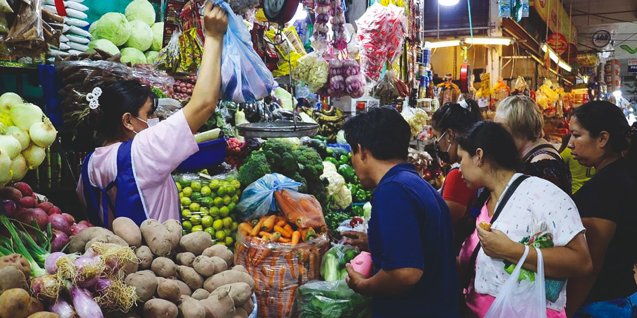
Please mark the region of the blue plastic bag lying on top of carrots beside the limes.
<svg viewBox="0 0 637 318"><path fill-rule="evenodd" d="M241 219L259 218L276 209L274 194L278 190L299 191L301 183L282 174L266 174L245 188L237 205Z"/></svg>

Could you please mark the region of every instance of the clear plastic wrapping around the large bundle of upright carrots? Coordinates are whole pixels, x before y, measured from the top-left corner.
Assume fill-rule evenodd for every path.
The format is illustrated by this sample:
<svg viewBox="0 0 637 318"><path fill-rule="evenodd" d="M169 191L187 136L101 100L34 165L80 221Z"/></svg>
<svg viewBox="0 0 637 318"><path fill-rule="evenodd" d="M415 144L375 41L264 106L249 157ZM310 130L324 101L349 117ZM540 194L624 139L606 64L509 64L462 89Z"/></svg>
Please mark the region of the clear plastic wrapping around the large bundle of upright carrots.
<svg viewBox="0 0 637 318"><path fill-rule="evenodd" d="M255 280L259 317L298 317L297 291L319 279L320 261L329 249L327 235L297 245L266 242L239 234L234 263ZM338 317L338 316L329 316Z"/></svg>

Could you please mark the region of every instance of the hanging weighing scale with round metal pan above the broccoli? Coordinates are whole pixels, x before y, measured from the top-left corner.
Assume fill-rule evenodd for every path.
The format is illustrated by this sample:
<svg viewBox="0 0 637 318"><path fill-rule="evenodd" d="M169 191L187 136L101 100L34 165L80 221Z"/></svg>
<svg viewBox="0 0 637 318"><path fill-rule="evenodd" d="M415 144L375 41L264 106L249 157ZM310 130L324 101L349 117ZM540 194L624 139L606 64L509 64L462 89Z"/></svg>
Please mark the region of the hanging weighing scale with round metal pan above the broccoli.
<svg viewBox="0 0 637 318"><path fill-rule="evenodd" d="M270 22L275 22L279 25L275 38L282 38L280 43L270 43L268 39L265 39L272 45L280 45L285 41L282 32L285 24L289 22L299 6L299 0L262 0L263 13ZM288 48L288 66L290 69L290 85L294 83L292 81L292 65L290 62L290 47ZM292 105L294 105L294 94L290 92ZM297 120L296 111L293 116L293 121L271 121L271 122L259 122L259 123L245 123L237 125L237 132L243 137L252 138L283 138L283 137L304 137L313 136L318 133L317 123L304 123Z"/></svg>

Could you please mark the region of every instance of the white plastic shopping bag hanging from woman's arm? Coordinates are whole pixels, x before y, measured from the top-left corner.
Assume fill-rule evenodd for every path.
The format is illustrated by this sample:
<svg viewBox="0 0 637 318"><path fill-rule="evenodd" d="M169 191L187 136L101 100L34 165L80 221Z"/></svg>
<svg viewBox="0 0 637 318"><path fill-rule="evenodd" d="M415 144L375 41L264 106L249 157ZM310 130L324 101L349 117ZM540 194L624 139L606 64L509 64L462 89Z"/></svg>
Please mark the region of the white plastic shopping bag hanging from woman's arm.
<svg viewBox="0 0 637 318"><path fill-rule="evenodd" d="M544 261L540 249L536 247L535 250L538 252L538 272L535 281L519 280L522 264L529 254L529 247L524 245L522 258L484 318L547 318Z"/></svg>

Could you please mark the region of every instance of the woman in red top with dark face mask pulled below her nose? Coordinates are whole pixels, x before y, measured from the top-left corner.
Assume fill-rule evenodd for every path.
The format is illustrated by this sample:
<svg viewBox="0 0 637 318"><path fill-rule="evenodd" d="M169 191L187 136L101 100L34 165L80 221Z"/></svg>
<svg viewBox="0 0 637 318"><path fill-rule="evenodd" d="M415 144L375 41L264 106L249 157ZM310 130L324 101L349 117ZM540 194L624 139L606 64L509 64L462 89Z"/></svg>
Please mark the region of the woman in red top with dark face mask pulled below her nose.
<svg viewBox="0 0 637 318"><path fill-rule="evenodd" d="M441 162L453 165L440 190L454 221L456 248L459 248L465 237L475 230L475 222L468 222L467 230L461 230L465 227L461 220L468 215L476 198L476 190L469 189L462 180L458 169L458 143L455 137L478 121L482 121L480 107L470 99L462 100L459 103L445 104L432 116L433 132L436 138L434 141L436 155Z"/></svg>

